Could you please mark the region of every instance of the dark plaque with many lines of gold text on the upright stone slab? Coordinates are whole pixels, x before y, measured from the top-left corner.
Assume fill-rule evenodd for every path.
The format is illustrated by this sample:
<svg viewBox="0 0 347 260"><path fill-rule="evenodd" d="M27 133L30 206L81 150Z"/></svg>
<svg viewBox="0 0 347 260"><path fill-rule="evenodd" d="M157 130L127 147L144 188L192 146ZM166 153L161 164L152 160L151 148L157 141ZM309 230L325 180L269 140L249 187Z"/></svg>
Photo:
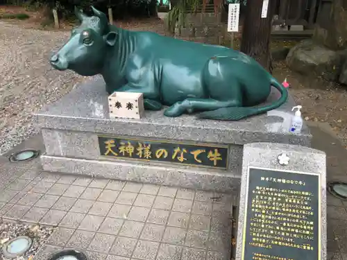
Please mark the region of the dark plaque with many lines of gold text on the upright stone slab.
<svg viewBox="0 0 347 260"><path fill-rule="evenodd" d="M249 168L242 260L321 257L321 176Z"/></svg>

